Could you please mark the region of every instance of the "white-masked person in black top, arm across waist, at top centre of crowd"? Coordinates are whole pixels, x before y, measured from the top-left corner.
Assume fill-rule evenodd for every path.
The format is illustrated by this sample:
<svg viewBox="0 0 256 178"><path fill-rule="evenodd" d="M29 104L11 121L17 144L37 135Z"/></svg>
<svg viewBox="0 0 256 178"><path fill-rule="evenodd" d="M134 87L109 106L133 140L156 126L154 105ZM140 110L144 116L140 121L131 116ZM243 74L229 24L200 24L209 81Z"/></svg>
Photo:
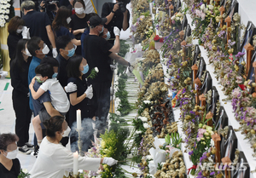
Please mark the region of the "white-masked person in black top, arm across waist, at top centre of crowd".
<svg viewBox="0 0 256 178"><path fill-rule="evenodd" d="M83 0L74 0L73 7L75 14L70 17L69 27L76 39L80 40L84 29L88 27L87 21L90 19L91 14L84 13L85 4ZM82 55L81 46L76 49L76 55Z"/></svg>

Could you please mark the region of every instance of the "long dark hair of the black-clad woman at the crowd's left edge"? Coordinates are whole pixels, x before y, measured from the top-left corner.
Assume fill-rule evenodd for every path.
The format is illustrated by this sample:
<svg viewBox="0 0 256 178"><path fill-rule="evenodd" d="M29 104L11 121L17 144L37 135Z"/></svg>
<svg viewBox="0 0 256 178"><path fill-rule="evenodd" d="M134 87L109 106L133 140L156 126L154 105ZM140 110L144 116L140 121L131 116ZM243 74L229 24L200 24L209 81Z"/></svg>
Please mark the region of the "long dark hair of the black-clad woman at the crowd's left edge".
<svg viewBox="0 0 256 178"><path fill-rule="evenodd" d="M23 57L23 53L21 52L21 50L25 50L25 46L27 43L27 39L20 39L19 42L17 43L17 47L16 47L16 56L14 61L12 61L13 64L17 65L20 72L25 72L25 69L22 68L22 62L24 62L24 57ZM27 59L29 60L29 58Z"/></svg>

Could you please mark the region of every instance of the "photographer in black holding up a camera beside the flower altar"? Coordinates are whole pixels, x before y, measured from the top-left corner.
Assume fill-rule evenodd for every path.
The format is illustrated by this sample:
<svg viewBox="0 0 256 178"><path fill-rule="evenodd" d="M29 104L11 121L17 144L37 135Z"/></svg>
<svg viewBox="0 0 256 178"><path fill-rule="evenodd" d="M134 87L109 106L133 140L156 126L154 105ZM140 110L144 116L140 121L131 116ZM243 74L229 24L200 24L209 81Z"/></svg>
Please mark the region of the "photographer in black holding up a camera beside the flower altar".
<svg viewBox="0 0 256 178"><path fill-rule="evenodd" d="M105 23L105 27L108 28L108 32L111 34L111 38L108 40L108 42L112 44L115 39L113 27L117 26L120 31L121 29L126 31L130 26L130 12L128 9L126 9L123 13L119 9L120 2L124 2L124 0L117 0L116 3L104 3L102 6L102 18L106 17L108 19L108 21Z"/></svg>

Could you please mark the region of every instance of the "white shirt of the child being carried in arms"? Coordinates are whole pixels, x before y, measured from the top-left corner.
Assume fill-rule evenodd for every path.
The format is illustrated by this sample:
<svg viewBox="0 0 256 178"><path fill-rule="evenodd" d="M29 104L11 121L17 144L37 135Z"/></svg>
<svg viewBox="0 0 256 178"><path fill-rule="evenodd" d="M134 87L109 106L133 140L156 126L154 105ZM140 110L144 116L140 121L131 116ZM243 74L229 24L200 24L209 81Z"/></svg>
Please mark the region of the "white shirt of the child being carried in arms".
<svg viewBox="0 0 256 178"><path fill-rule="evenodd" d="M40 88L44 89L44 91L49 90L51 104L58 112L68 112L70 105L69 100L57 78L47 79Z"/></svg>

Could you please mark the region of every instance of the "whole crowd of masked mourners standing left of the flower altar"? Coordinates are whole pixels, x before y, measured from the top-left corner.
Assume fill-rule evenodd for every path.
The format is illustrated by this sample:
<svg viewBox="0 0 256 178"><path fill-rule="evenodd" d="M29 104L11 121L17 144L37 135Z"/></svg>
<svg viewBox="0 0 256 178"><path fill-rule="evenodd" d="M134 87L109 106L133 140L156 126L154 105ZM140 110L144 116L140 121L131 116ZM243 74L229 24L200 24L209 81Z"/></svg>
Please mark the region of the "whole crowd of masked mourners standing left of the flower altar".
<svg viewBox="0 0 256 178"><path fill-rule="evenodd" d="M9 21L16 119L15 134L0 135L3 178L18 176L17 152L37 157L31 177L62 178L65 169L73 168L73 152L79 151L77 110L83 120L83 152L107 129L113 60L132 71L130 63L116 55L120 30L129 27L130 13L120 11L118 1L105 3L102 17L85 14L85 8L83 0L73 0L49 10L42 1L37 11L36 4L27 0L21 3L22 17ZM90 78L91 72L96 72L94 78ZM0 78L6 75L1 72ZM33 145L28 132L31 120ZM69 139L71 150L66 148ZM99 164L116 163L113 158L79 158L80 169L96 170Z"/></svg>

